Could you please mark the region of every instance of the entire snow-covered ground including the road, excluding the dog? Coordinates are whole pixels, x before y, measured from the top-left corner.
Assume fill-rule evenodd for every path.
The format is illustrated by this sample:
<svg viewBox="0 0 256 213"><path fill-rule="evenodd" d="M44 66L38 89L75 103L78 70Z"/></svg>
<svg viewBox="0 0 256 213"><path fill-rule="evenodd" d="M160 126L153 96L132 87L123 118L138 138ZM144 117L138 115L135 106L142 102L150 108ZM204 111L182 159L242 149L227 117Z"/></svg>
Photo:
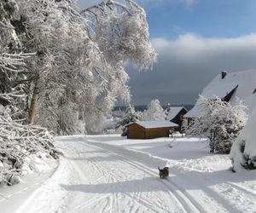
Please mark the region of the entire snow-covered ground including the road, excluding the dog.
<svg viewBox="0 0 256 213"><path fill-rule="evenodd" d="M1 212L256 212L256 172L232 173L229 157L210 154L206 140L55 141L64 153L59 165L0 188ZM157 166L166 164L162 180Z"/></svg>

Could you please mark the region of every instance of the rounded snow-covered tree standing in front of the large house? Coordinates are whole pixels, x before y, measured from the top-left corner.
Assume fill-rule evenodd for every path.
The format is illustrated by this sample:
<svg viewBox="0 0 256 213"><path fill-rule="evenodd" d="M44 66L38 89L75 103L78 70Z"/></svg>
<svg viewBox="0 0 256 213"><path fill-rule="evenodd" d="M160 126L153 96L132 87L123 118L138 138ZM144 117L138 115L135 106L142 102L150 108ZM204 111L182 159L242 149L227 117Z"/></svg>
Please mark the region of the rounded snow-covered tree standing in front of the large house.
<svg viewBox="0 0 256 213"><path fill-rule="evenodd" d="M187 130L188 135L209 138L211 153L230 153L230 148L247 121L244 105L237 100L232 107L218 96L199 99L201 115Z"/></svg>

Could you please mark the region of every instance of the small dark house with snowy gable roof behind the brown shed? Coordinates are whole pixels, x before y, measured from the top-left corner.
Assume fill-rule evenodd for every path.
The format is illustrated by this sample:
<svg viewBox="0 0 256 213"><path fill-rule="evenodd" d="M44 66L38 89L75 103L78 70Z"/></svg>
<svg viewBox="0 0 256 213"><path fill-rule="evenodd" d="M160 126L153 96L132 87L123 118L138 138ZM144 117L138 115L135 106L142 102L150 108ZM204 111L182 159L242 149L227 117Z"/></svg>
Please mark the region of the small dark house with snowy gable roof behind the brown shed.
<svg viewBox="0 0 256 213"><path fill-rule="evenodd" d="M175 131L183 132L183 116L188 112L185 107L168 107L166 119L178 126Z"/></svg>

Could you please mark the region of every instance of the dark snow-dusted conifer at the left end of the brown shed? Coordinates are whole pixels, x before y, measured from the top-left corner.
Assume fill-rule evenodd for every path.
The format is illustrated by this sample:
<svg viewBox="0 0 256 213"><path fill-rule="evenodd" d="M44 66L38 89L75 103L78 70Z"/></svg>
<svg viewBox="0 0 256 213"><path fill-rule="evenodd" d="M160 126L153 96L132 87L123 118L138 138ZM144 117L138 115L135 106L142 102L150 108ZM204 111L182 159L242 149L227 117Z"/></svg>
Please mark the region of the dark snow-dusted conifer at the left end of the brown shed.
<svg viewBox="0 0 256 213"><path fill-rule="evenodd" d="M125 116L120 120L119 124L117 124L117 128L122 127L122 136L127 135L127 128L125 127L125 125L136 122L138 120L140 120L140 117L136 112L135 108L131 105L127 107L127 109L125 110Z"/></svg>

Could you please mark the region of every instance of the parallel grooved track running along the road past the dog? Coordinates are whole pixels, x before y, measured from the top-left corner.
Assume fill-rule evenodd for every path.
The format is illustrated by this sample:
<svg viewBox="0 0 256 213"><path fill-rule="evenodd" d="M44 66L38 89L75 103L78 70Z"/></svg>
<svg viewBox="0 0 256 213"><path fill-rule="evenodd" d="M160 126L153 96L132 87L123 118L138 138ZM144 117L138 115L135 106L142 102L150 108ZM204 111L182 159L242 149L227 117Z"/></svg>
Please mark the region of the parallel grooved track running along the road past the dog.
<svg viewBox="0 0 256 213"><path fill-rule="evenodd" d="M124 158L120 156L118 153L113 153L112 151L109 152L109 150L103 149L101 145L105 145L105 147L109 147L111 149L111 145L108 144L102 144L100 142L96 141L79 141L79 143L86 143L92 147L100 147L102 149L103 153L106 154L112 154L113 157L119 158L120 160L124 161L126 164L131 164L132 166L136 167L139 170L143 170L145 173L147 173L149 176L156 176L155 171L149 169L147 166L144 166L143 164L139 164L138 162L132 160L131 158ZM106 146L107 145L107 146ZM171 194L174 194L174 197L177 199L177 202L181 204L181 206L184 208L186 212L206 212L206 210L203 209L203 207L198 204L192 196L185 192L182 187L177 186L176 183L168 180L160 180L160 183L163 184L165 187L170 189L172 192Z"/></svg>

